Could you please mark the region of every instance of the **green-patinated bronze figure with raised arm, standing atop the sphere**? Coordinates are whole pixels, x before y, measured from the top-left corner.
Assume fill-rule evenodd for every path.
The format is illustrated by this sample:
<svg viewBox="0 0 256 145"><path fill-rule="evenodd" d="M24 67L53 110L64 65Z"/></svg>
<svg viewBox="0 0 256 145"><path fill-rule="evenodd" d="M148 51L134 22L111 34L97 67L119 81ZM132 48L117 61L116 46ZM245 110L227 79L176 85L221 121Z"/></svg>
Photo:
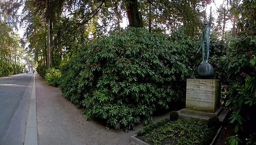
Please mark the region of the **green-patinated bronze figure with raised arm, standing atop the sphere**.
<svg viewBox="0 0 256 145"><path fill-rule="evenodd" d="M203 61L202 61L202 63L208 63L209 45L210 45L210 38L209 38L209 36L210 36L210 30L211 30L211 23L212 23L212 7L210 8L209 22L207 20L204 21L204 26L205 27L204 27L202 41L201 41L201 47L202 47L202 51L203 51ZM205 48L206 48L206 51L207 51L206 61L204 61Z"/></svg>

